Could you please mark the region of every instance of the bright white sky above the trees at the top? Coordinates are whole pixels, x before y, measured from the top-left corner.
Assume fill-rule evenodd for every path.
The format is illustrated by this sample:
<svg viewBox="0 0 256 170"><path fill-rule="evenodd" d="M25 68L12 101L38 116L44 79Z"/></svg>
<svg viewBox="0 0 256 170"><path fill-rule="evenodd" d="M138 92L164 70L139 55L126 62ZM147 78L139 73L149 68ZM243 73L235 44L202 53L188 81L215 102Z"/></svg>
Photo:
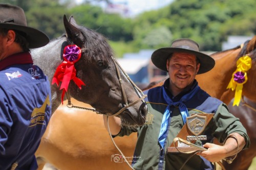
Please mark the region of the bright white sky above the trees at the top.
<svg viewBox="0 0 256 170"><path fill-rule="evenodd" d="M83 0L76 0L79 4ZM141 12L162 8L174 0L112 0L116 4L125 4L129 8L131 16L135 16ZM101 4L104 7L105 4Z"/></svg>

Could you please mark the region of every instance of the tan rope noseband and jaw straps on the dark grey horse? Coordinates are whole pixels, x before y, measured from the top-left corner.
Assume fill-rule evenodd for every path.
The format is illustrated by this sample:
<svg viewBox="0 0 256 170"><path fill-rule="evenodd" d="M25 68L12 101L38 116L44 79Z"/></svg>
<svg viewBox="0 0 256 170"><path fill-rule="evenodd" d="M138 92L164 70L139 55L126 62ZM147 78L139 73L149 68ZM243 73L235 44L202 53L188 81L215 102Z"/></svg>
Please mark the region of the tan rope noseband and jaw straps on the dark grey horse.
<svg viewBox="0 0 256 170"><path fill-rule="evenodd" d="M68 99L68 104L67 104L67 107L69 108L77 108L77 109L84 109L84 110L90 110L90 111L93 111L93 112L96 112L97 114L104 114L104 115L107 115L107 116L117 116L119 115L120 113L122 113L125 109L135 105L136 103L138 103L139 101L142 101L144 103L144 99L146 98L147 95L143 94L142 90L140 88L138 88L136 86L136 84L132 81L132 79L125 73L125 71L122 69L122 67L120 66L120 64L116 61L116 59L111 56L111 59L112 61L114 62L114 65L116 67L116 72L117 72L117 77L118 77L118 80L119 80L119 83L120 83L120 87L121 87L121 90L122 90L122 95L123 95L123 99L124 99L124 102L125 102L125 106L120 109L118 112L114 113L114 114L108 114L108 113L105 113L105 112L101 112L99 110L96 110L96 109L92 109L92 108L86 108L86 107L79 107L79 106L74 106L72 103L71 103L71 97L70 97L70 93L69 91L67 91L66 93L66 96L67 96L67 99ZM133 88L134 90L136 91L137 95L140 97L137 101L133 102L133 103L128 103L127 101L127 97L126 97L126 93L125 93L125 90L124 90L124 87L123 87L123 82L122 82L122 79L121 79L121 74L120 74L120 71L119 71L119 68L121 69L122 73L124 74L125 78L133 85Z"/></svg>

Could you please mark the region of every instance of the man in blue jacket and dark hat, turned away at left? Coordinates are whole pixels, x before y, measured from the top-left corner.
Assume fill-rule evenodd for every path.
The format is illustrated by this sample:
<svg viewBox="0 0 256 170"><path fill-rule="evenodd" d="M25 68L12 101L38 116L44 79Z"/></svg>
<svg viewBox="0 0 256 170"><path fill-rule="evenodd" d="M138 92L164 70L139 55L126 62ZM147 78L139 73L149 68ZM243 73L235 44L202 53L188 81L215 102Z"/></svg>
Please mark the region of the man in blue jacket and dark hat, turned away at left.
<svg viewBox="0 0 256 170"><path fill-rule="evenodd" d="M0 169L34 170L35 152L51 116L48 77L29 48L48 36L27 26L22 8L0 4Z"/></svg>

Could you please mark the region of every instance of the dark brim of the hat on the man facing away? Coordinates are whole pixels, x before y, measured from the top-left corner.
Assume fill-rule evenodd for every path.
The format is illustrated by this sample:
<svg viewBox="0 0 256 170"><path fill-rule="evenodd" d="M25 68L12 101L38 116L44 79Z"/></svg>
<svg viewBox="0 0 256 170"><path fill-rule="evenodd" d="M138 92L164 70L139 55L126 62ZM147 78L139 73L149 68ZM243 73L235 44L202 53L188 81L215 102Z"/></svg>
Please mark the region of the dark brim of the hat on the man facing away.
<svg viewBox="0 0 256 170"><path fill-rule="evenodd" d="M0 23L0 28L17 30L26 33L29 48L45 46L50 41L49 37L45 33L31 27L20 26L12 23Z"/></svg>

